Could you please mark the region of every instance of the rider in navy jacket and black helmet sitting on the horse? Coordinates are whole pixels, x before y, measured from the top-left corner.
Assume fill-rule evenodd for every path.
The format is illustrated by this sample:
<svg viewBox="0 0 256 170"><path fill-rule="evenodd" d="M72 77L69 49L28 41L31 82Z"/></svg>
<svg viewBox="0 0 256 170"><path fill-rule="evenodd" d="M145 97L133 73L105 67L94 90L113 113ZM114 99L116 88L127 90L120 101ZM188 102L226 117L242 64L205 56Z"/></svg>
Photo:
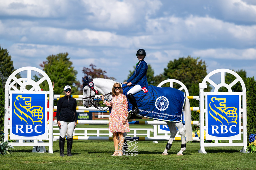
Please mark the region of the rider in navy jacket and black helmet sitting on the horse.
<svg viewBox="0 0 256 170"><path fill-rule="evenodd" d="M139 113L139 108L137 106L135 97L133 96L135 93L142 90L142 88L148 87L148 80L147 80L147 70L148 65L144 61L146 57L146 51L144 49L139 49L136 53L139 62L136 64L135 71L133 75L123 84L127 84L128 86L133 86L128 92L128 99L132 104L132 113L137 114ZM144 91L144 90L143 90Z"/></svg>

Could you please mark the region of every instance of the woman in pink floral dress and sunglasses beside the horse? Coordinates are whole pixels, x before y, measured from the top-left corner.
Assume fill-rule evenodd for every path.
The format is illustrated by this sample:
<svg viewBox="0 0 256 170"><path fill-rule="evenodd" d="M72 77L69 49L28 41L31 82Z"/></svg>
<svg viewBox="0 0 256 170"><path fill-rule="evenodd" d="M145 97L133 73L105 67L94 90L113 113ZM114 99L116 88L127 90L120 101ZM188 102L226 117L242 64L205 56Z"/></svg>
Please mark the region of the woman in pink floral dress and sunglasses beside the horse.
<svg viewBox="0 0 256 170"><path fill-rule="evenodd" d="M127 98L123 94L123 89L119 83L115 83L112 88L112 100L110 102L104 100L103 95L101 99L107 106L112 107L109 116L108 131L113 133L113 141L115 152L112 156L122 156L122 147L124 143L123 133L130 132L129 123L127 121ZM119 150L118 150L119 145Z"/></svg>

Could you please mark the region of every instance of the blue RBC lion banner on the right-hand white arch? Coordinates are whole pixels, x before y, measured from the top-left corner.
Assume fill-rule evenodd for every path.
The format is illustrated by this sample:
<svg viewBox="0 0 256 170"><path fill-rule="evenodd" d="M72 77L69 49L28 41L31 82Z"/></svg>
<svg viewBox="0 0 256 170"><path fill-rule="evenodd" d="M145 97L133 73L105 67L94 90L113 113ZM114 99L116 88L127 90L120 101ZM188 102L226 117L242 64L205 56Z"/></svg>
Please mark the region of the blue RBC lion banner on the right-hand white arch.
<svg viewBox="0 0 256 170"><path fill-rule="evenodd" d="M239 95L207 96L206 140L241 139Z"/></svg>

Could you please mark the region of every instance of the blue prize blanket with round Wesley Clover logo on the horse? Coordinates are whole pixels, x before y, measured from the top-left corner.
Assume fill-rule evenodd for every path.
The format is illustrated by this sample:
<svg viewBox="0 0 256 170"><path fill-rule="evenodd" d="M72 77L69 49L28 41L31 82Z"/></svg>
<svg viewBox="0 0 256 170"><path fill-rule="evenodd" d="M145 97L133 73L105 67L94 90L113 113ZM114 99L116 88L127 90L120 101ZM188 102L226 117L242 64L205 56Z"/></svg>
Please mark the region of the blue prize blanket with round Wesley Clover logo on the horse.
<svg viewBox="0 0 256 170"><path fill-rule="evenodd" d="M127 96L127 92L132 87L124 87L122 85L123 94ZM186 93L172 87L156 87L149 85L148 92L140 91L134 94L137 101L140 115L156 120L180 122L182 120L182 112L186 101ZM131 112L132 104L128 99L128 112Z"/></svg>

